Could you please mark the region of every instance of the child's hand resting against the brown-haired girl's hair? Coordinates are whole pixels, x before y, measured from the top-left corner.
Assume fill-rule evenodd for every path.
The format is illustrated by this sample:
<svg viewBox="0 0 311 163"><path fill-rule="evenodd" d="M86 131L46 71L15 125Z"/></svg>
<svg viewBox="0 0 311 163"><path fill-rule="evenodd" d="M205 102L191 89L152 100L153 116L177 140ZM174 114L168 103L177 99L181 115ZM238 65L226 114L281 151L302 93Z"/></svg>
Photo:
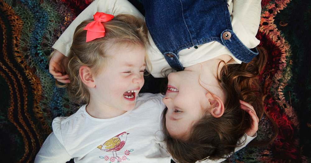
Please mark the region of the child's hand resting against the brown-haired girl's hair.
<svg viewBox="0 0 311 163"><path fill-rule="evenodd" d="M256 112L254 110L254 107L250 105L249 103L240 100L241 103L241 108L245 111L248 112L248 114L251 116L251 127L245 132L248 136L253 136L256 134L258 130L258 123L259 123L259 118L256 115Z"/></svg>

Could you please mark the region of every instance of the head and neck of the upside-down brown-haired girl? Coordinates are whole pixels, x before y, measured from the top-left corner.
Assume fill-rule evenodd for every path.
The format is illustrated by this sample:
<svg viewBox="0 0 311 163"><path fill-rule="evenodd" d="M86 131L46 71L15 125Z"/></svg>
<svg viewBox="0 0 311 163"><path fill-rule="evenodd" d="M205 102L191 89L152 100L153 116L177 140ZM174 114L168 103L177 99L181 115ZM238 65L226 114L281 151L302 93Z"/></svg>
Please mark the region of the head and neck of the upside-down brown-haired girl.
<svg viewBox="0 0 311 163"><path fill-rule="evenodd" d="M244 143L239 140L245 133L256 136L257 129L250 130L254 122L249 121L258 123L264 113L258 75L266 61L262 48L258 50L249 63L225 65L224 58L215 58L169 74L163 127L166 148L175 161L219 161ZM247 102L256 111L242 110L253 108Z"/></svg>

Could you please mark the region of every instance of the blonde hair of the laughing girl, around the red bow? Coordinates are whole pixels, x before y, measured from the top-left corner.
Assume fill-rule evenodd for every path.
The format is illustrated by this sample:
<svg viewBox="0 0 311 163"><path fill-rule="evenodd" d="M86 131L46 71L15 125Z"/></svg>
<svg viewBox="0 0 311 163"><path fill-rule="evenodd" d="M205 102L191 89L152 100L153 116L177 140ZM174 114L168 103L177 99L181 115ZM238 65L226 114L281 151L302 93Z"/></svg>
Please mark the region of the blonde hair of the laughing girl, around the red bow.
<svg viewBox="0 0 311 163"><path fill-rule="evenodd" d="M117 15L108 22L102 22L105 36L86 42L86 30L83 28L91 21L93 20L83 21L77 26L66 61L66 71L70 80L67 91L69 97L79 103L88 103L90 100L87 86L79 76L81 66L91 68L96 76L111 56L107 52L108 49L120 50L128 46L143 46L146 51L149 44L145 22L127 14ZM151 65L147 55L145 61Z"/></svg>

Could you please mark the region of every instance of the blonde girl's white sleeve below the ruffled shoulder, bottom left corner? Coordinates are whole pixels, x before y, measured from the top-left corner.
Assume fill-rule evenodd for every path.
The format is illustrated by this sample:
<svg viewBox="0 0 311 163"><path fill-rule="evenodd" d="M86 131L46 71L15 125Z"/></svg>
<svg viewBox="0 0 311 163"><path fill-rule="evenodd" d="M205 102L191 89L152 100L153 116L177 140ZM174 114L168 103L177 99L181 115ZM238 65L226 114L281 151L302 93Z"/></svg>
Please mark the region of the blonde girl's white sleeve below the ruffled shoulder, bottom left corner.
<svg viewBox="0 0 311 163"><path fill-rule="evenodd" d="M72 157L67 153L63 144L58 141L52 132L44 141L35 158L35 163L65 163L70 159L72 159Z"/></svg>

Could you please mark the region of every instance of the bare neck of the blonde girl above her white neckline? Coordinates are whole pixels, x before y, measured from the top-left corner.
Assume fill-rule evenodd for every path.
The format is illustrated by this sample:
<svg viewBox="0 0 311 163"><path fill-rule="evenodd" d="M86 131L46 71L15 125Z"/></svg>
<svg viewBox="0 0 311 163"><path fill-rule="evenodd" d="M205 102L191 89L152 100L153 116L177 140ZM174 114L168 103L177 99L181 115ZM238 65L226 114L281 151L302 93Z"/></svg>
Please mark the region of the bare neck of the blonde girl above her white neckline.
<svg viewBox="0 0 311 163"><path fill-rule="evenodd" d="M106 106L102 103L92 101L91 99L92 98L90 98L90 102L86 106L86 112L94 118L99 119L114 118L126 112L120 109L116 109L114 107Z"/></svg>

